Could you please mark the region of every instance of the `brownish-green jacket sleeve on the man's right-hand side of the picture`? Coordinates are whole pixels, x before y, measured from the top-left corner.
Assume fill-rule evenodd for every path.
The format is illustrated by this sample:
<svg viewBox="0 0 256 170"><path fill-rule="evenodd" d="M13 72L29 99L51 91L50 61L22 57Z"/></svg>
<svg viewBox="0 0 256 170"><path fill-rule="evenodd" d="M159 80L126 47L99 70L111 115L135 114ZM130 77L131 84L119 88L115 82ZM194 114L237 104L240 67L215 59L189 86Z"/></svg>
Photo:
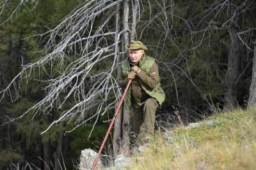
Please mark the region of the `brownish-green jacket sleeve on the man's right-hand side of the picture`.
<svg viewBox="0 0 256 170"><path fill-rule="evenodd" d="M160 82L159 71L156 62L154 62L153 66L151 67L149 75L145 71L141 70L137 76L151 89L154 89Z"/></svg>

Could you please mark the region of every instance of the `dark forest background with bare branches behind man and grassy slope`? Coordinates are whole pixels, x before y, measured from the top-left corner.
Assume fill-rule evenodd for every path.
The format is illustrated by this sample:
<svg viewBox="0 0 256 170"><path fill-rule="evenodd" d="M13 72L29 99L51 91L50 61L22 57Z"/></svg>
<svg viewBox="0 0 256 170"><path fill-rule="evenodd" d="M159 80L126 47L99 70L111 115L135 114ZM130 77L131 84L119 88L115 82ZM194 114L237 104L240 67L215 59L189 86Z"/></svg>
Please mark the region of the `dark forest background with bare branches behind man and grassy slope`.
<svg viewBox="0 0 256 170"><path fill-rule="evenodd" d="M131 40L159 61L166 101L158 129L256 103L253 0L1 0L0 7L0 169L26 162L71 169L81 150L97 150L122 93L116 78ZM127 115L124 108L105 153L129 153Z"/></svg>

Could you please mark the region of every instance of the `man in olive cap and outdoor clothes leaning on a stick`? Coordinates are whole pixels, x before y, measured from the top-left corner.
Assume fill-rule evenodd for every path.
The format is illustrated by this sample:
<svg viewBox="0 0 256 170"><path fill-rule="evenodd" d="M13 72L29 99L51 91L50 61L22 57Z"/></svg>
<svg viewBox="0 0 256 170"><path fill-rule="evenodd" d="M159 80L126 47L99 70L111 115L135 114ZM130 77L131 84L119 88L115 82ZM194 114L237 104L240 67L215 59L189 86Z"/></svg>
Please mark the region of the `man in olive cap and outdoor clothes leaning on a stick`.
<svg viewBox="0 0 256 170"><path fill-rule="evenodd" d="M122 88L131 79L126 101L132 109L132 131L138 135L138 144L146 143L154 135L156 111L165 99L160 85L157 60L145 55L147 46L141 41L131 41L127 47L129 57L122 62Z"/></svg>

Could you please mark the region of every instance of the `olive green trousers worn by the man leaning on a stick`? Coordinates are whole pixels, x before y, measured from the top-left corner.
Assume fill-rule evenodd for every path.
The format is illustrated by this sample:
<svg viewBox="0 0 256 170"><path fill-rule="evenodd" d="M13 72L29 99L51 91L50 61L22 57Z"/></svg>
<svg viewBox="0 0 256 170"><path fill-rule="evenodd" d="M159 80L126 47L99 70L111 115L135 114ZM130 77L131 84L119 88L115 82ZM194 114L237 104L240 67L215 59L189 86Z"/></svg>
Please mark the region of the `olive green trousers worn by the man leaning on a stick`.
<svg viewBox="0 0 256 170"><path fill-rule="evenodd" d="M154 136L157 108L159 104L154 98L147 99L142 106L132 106L132 131L138 135L138 143L144 143L145 139Z"/></svg>

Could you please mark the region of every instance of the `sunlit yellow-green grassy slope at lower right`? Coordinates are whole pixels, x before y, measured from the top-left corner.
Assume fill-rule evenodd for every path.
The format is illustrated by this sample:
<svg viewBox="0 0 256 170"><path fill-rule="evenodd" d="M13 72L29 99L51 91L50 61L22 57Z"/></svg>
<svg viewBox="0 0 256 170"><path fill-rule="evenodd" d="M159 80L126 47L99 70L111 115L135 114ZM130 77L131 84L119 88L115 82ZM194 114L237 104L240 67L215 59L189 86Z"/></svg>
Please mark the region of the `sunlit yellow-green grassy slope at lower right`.
<svg viewBox="0 0 256 170"><path fill-rule="evenodd" d="M256 169L256 109L210 119L214 124L157 134L128 169Z"/></svg>

